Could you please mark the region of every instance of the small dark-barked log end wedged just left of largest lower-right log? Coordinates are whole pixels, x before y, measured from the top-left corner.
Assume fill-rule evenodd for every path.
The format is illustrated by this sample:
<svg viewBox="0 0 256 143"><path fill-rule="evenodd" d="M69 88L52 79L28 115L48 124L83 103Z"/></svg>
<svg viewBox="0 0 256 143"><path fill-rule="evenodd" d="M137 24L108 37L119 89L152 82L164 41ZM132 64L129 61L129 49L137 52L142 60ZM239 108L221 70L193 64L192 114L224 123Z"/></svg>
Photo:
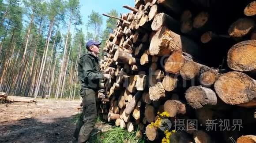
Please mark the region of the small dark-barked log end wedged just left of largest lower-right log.
<svg viewBox="0 0 256 143"><path fill-rule="evenodd" d="M200 69L199 82L204 87L211 87L214 85L215 81L218 79L218 70L213 68Z"/></svg>

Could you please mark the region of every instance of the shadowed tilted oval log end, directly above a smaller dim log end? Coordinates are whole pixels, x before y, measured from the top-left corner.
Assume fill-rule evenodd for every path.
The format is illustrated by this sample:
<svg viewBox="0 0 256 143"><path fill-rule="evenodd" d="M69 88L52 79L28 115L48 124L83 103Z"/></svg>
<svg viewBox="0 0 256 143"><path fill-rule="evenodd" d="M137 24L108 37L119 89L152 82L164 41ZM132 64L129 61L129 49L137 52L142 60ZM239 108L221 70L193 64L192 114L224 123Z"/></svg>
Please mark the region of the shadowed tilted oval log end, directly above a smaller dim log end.
<svg viewBox="0 0 256 143"><path fill-rule="evenodd" d="M208 19L209 19L208 12L205 12L205 11L200 12L194 18L193 27L197 29L203 27L203 25L205 25Z"/></svg>

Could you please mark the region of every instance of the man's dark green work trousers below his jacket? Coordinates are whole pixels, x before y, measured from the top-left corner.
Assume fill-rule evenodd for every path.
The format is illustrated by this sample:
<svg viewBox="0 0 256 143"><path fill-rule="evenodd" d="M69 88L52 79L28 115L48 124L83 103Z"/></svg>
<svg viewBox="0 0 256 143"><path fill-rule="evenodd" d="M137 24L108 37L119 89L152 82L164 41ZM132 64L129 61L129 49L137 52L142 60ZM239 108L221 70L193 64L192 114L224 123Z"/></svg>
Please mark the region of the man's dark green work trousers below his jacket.
<svg viewBox="0 0 256 143"><path fill-rule="evenodd" d="M80 95L83 97L83 112L77 122L74 137L78 143L86 143L97 118L96 92L93 89L81 89Z"/></svg>

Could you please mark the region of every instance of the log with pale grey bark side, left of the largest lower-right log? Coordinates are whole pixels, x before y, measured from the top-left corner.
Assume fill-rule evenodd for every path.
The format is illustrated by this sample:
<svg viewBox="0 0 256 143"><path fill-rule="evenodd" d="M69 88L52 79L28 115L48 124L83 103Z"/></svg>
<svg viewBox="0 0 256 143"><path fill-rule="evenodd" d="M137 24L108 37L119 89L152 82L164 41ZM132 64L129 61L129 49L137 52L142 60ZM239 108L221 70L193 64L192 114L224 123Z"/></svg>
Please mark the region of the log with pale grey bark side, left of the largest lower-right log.
<svg viewBox="0 0 256 143"><path fill-rule="evenodd" d="M200 109L207 105L216 105L217 96L214 91L203 86L191 86L185 93L188 104L194 109Z"/></svg>

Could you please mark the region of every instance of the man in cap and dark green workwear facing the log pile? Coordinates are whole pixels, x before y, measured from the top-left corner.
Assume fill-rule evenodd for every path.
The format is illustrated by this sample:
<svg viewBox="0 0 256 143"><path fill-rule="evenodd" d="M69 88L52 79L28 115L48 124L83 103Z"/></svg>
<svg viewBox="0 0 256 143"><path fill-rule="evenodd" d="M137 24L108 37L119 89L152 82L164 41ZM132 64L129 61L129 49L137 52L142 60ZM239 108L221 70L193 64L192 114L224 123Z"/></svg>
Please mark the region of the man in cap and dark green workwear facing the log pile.
<svg viewBox="0 0 256 143"><path fill-rule="evenodd" d="M90 40L86 44L88 52L79 58L78 76L82 83L80 95L83 98L83 112L77 122L74 137L78 143L87 143L90 132L94 128L97 118L96 93L99 89L100 79L110 79L111 76L100 73L98 54L100 42Z"/></svg>

